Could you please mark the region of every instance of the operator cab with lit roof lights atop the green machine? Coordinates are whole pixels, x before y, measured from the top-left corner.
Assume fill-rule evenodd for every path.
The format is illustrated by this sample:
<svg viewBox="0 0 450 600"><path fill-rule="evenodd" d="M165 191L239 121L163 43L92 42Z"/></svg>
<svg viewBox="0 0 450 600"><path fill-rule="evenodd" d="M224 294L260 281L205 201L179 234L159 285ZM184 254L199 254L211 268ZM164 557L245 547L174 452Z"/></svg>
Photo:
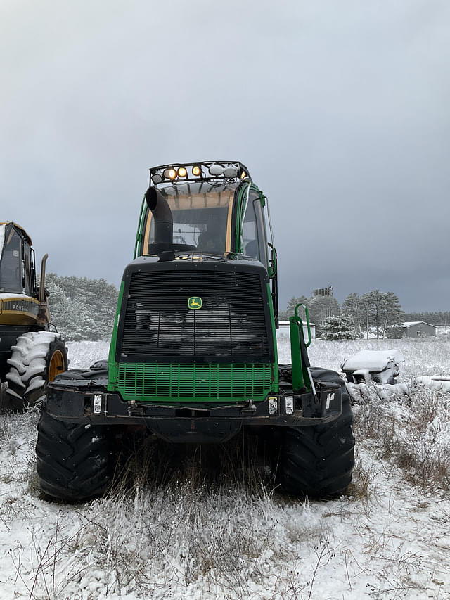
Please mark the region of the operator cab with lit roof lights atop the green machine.
<svg viewBox="0 0 450 600"><path fill-rule="evenodd" d="M172 215L172 238L165 246L195 257L247 255L269 264L262 193L240 162L201 162L150 169ZM148 206L141 218L138 255L159 253L155 217ZM166 217L167 218L167 217Z"/></svg>

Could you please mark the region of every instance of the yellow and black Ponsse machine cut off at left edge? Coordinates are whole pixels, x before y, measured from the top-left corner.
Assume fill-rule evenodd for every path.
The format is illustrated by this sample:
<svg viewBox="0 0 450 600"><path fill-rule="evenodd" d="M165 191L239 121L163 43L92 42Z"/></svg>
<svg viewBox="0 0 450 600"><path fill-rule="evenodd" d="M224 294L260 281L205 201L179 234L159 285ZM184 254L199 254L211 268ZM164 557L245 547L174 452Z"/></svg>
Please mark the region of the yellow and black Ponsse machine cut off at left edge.
<svg viewBox="0 0 450 600"><path fill-rule="evenodd" d="M0 381L1 408L22 410L44 397L49 381L68 368L60 334L51 331L45 265L36 281L34 250L27 232L0 223Z"/></svg>

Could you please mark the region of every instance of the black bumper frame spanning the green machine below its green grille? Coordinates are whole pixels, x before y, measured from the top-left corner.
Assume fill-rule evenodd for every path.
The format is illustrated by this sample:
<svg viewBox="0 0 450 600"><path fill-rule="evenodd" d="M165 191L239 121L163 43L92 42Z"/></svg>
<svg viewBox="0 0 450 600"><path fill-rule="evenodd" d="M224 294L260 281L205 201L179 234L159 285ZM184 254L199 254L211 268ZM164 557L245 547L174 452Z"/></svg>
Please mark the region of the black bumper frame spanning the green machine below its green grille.
<svg viewBox="0 0 450 600"><path fill-rule="evenodd" d="M70 373L70 371L68 371ZM225 441L242 426L301 427L329 423L341 413L341 389L316 382L317 395L271 394L263 402L234 404L124 401L108 392L106 380L85 374L56 378L49 384L43 409L54 419L97 425L145 425L170 441Z"/></svg>

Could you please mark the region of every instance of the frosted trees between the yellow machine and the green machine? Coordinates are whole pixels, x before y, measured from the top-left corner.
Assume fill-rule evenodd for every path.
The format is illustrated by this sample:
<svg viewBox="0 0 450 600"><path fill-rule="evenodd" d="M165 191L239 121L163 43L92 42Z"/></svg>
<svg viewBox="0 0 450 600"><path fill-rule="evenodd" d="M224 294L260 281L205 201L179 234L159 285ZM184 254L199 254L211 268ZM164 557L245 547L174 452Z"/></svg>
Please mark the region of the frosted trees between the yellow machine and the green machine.
<svg viewBox="0 0 450 600"><path fill-rule="evenodd" d="M108 340L113 333L117 288L105 279L46 274L51 322L70 341Z"/></svg>

